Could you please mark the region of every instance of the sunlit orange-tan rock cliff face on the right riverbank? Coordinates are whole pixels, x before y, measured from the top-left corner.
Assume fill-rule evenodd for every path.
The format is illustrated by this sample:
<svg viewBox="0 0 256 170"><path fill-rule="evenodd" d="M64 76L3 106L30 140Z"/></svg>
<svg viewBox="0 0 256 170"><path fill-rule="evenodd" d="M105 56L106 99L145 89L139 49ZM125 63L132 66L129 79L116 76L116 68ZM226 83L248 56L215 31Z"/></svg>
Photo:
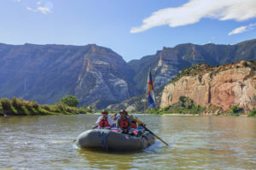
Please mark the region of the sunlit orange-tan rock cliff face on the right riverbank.
<svg viewBox="0 0 256 170"><path fill-rule="evenodd" d="M256 106L255 66L224 65L210 71L201 71L196 76L181 77L166 85L160 107L177 103L180 96L193 99L195 105L216 105L224 111L239 105L245 111Z"/></svg>

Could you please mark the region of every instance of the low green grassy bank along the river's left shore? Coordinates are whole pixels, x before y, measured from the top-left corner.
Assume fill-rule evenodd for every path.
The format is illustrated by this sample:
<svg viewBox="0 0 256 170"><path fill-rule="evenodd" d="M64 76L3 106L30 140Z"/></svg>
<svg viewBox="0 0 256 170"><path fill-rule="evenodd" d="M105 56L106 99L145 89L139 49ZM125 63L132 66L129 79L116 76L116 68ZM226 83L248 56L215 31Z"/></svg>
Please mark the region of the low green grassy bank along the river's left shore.
<svg viewBox="0 0 256 170"><path fill-rule="evenodd" d="M89 111L63 104L39 105L35 101L12 98L0 99L0 116L35 116L35 115L73 115L85 114Z"/></svg>

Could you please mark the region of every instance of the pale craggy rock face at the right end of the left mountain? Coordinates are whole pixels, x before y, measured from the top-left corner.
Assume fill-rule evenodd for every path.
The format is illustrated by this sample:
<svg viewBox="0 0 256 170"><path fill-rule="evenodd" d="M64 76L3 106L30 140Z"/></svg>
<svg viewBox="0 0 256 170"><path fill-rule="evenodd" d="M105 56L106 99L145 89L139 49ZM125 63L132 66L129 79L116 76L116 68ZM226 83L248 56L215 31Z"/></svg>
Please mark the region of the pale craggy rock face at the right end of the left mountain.
<svg viewBox="0 0 256 170"><path fill-rule="evenodd" d="M134 71L121 56L108 48L93 46L84 55L75 95L86 105L97 100L122 101L137 94L133 77Z"/></svg>

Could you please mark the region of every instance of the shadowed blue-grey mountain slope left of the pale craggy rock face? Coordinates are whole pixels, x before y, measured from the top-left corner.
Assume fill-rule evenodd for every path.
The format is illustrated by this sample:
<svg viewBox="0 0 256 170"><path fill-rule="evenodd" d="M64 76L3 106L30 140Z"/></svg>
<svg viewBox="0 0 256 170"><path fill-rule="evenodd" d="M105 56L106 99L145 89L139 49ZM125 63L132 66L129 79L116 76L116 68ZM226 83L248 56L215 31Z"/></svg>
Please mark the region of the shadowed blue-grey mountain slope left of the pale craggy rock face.
<svg viewBox="0 0 256 170"><path fill-rule="evenodd" d="M0 44L0 97L54 104L73 94L90 46Z"/></svg>

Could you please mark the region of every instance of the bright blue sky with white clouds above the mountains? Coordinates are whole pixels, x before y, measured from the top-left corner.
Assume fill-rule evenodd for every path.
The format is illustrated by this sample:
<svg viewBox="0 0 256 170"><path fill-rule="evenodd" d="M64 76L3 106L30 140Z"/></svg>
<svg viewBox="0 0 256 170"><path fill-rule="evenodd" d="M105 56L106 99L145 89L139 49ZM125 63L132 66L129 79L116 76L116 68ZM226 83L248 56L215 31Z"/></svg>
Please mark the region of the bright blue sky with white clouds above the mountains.
<svg viewBox="0 0 256 170"><path fill-rule="evenodd" d="M2 0L0 42L97 45L126 61L256 38L256 0Z"/></svg>

